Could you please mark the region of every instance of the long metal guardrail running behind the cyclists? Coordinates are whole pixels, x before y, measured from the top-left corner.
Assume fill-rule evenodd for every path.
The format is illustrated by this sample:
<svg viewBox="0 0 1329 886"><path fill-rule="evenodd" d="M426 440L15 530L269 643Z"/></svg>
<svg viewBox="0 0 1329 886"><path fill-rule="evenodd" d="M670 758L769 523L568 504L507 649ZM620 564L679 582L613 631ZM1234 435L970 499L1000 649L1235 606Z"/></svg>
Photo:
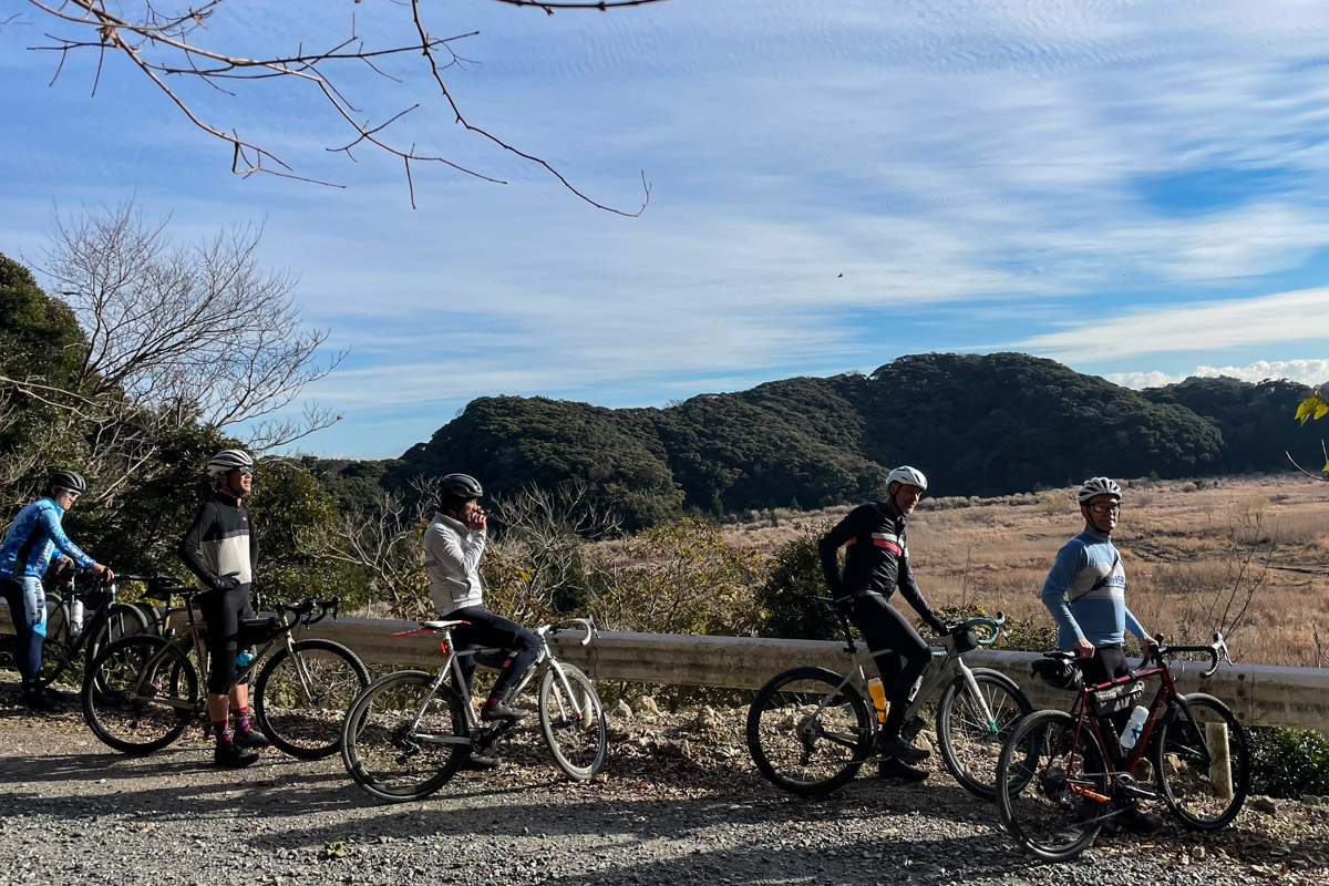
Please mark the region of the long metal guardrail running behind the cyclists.
<svg viewBox="0 0 1329 886"><path fill-rule="evenodd" d="M327 619L308 634L344 643L380 671L437 665L440 654L433 635L389 636L413 627L415 622L343 618ZM12 630L8 607L0 606L0 631ZM556 636L553 644L561 659L597 680L756 689L785 668L812 664L843 671L849 660L844 643L823 640L602 631L590 646L582 647L578 636ZM1030 675L1029 664L1037 658L1037 652L975 650L965 660L1010 676L1035 708L1069 707L1070 692L1057 691ZM1223 699L1251 725L1329 732L1329 668L1224 664L1212 677L1201 680L1199 675L1207 665L1207 660L1175 662L1172 673L1177 687Z"/></svg>

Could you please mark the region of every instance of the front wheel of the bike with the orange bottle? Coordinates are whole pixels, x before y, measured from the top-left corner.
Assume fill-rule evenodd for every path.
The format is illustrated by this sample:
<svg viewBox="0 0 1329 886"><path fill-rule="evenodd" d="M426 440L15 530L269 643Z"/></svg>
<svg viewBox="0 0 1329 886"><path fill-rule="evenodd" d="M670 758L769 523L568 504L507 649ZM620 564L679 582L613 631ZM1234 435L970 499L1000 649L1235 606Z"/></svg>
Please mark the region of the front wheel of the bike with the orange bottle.
<svg viewBox="0 0 1329 886"><path fill-rule="evenodd" d="M970 697L965 675L958 675L937 703L937 744L946 769L961 786L983 800L997 798L997 760L1015 724L1034 705L1014 680L987 668L973 668L974 683L987 703L991 720Z"/></svg>

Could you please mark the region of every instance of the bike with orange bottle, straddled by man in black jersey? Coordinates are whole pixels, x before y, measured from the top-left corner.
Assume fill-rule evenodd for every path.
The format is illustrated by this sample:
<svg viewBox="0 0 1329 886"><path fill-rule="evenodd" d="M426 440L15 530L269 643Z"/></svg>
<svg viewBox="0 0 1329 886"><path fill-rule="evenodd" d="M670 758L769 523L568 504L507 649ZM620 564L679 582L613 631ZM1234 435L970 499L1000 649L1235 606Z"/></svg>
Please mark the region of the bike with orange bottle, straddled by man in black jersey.
<svg viewBox="0 0 1329 886"><path fill-rule="evenodd" d="M869 705L868 675L873 656L886 650L868 650L853 642L849 622L829 598L844 631L845 652L852 659L847 673L827 668L799 667L772 677L748 709L747 745L758 770L773 785L804 797L831 793L848 784L874 753L885 709ZM977 618L948 626L944 636L932 638L933 662L914 685L901 736L912 741L924 725L924 704L937 701L937 744L946 768L970 793L995 796L997 756L1011 727L1034 708L1015 681L987 668L970 668L964 655L994 643L1006 623ZM978 634L982 634L979 639ZM929 676L930 675L930 676Z"/></svg>

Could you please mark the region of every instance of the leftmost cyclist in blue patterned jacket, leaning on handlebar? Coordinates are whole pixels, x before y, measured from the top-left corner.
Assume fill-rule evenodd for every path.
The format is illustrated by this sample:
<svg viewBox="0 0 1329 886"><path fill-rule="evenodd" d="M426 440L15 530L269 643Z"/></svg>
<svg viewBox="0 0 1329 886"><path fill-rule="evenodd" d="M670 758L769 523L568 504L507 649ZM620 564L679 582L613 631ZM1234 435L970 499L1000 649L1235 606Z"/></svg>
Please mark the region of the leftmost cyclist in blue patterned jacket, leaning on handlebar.
<svg viewBox="0 0 1329 886"><path fill-rule="evenodd" d="M82 474L52 469L47 474L47 494L19 511L0 543L0 594L9 603L23 703L47 713L60 709L51 695L35 683L41 669L41 644L47 639L47 592L41 576L51 565L51 554L60 553L84 569L94 569L102 578L116 576L109 569L88 557L69 541L60 526L74 499L88 491Z"/></svg>

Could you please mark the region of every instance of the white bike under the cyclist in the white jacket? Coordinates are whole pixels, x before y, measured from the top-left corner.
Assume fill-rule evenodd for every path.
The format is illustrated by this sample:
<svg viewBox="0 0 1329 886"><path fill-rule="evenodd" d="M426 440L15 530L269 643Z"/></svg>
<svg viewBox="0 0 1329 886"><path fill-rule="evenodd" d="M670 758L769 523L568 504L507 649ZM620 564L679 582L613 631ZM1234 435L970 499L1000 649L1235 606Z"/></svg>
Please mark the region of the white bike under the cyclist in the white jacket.
<svg viewBox="0 0 1329 886"><path fill-rule="evenodd" d="M502 652L494 648L457 650L452 630L466 622L420 622L415 631L436 634L447 655L437 673L399 671L371 683L351 703L342 724L342 760L351 778L379 800L420 800L445 785L474 752L484 753L512 723L481 724L462 679L461 659L477 662ZM595 634L591 619L569 619L536 628L540 655L513 688L517 695L540 675L540 729L554 762L569 778L586 781L605 765L609 729L594 684L571 664L554 658L549 638L585 630L581 644ZM452 677L451 685L448 679Z"/></svg>

